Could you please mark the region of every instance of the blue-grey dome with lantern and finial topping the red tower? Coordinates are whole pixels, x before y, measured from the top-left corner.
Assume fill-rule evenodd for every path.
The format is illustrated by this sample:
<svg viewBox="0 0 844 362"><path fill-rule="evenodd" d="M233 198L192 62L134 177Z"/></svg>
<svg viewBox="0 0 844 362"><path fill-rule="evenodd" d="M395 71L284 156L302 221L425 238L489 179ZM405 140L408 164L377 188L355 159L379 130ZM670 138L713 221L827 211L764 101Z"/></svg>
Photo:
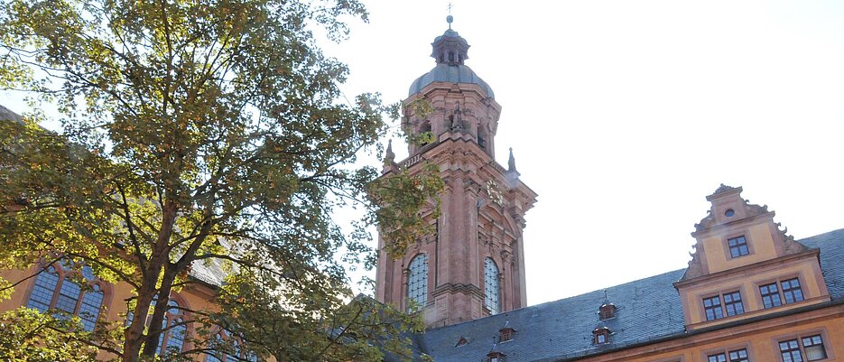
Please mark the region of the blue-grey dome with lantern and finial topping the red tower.
<svg viewBox="0 0 844 362"><path fill-rule="evenodd" d="M495 98L496 96L492 88L489 88L487 82L480 79L474 71L463 65L463 62L468 59L468 42L458 32L451 29L451 22L453 20L451 15L449 15L447 20L449 22L449 29L431 42L431 58L437 60L437 66L413 81L408 91L408 96L419 93L422 91L422 88L433 82L441 81L477 84L487 93L487 97Z"/></svg>

